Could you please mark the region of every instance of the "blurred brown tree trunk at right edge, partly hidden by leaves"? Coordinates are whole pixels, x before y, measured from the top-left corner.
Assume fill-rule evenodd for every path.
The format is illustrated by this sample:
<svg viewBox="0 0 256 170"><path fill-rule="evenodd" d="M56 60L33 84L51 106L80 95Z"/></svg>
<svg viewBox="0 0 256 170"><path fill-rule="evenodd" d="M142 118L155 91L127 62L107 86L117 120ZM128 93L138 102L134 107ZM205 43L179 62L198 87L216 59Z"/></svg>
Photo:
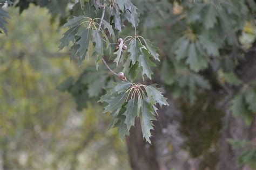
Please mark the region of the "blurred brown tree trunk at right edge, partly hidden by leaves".
<svg viewBox="0 0 256 170"><path fill-rule="evenodd" d="M254 44L255 48L256 44ZM254 49L253 48L253 49ZM250 83L256 78L256 53L251 51L246 53L244 61L240 62L237 67L237 74L240 79L245 83ZM231 96L235 94L238 90L232 89L231 94L227 96L226 102L221 103L221 108L225 110L225 117L223 119L223 133L220 138L220 162L218 169L227 169L227 170L238 170L241 167L237 164L237 158L242 150L234 150L232 146L227 143L228 139L238 139L238 140L255 140L256 137L256 117L251 126L245 124L241 118L235 118L232 116L232 113L228 109L229 100ZM256 103L255 103L256 104Z"/></svg>

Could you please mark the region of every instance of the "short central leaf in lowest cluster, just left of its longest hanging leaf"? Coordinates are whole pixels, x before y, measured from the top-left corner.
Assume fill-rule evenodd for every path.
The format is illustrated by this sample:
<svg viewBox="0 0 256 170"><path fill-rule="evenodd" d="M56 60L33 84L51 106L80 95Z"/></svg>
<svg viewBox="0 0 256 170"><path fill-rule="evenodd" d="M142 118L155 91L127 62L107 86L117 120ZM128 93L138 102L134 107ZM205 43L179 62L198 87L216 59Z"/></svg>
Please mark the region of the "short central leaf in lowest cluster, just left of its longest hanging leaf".
<svg viewBox="0 0 256 170"><path fill-rule="evenodd" d="M126 111L123 115L125 115L125 121L124 123L127 125L127 130L129 131L131 126L134 126L134 120L136 116L138 115L138 105L136 103L136 100L134 98L131 98L129 102L125 106Z"/></svg>

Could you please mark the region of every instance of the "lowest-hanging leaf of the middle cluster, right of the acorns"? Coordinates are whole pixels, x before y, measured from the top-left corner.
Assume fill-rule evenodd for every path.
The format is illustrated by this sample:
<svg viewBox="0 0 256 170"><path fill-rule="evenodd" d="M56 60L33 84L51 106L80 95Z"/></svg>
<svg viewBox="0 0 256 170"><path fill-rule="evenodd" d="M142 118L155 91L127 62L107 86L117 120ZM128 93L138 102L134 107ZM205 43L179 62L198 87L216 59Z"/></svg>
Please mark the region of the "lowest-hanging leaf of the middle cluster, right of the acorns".
<svg viewBox="0 0 256 170"><path fill-rule="evenodd" d="M153 72L150 67L156 65L150 60L150 54L145 48L140 48L140 51L142 54L139 55L139 66L143 68L142 73L151 79Z"/></svg>

